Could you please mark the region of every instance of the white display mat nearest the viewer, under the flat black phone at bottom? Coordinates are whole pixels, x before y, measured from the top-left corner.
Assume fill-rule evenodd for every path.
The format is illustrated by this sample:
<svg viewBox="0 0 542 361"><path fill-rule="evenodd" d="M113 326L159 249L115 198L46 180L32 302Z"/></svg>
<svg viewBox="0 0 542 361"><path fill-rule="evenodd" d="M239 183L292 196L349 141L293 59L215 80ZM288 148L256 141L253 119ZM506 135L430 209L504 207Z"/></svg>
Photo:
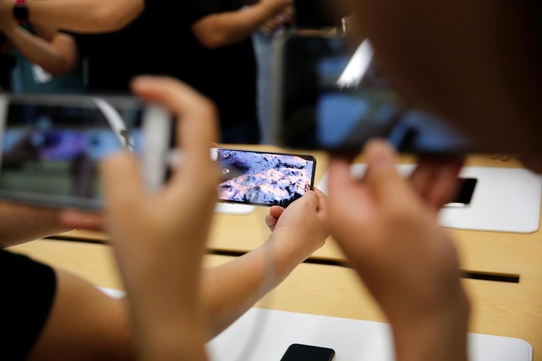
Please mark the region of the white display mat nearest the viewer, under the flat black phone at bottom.
<svg viewBox="0 0 542 361"><path fill-rule="evenodd" d="M469 333L472 361L532 361L532 347L524 340ZM215 361L279 361L294 343L330 347L334 361L392 361L388 324L347 318L251 309L211 340Z"/></svg>

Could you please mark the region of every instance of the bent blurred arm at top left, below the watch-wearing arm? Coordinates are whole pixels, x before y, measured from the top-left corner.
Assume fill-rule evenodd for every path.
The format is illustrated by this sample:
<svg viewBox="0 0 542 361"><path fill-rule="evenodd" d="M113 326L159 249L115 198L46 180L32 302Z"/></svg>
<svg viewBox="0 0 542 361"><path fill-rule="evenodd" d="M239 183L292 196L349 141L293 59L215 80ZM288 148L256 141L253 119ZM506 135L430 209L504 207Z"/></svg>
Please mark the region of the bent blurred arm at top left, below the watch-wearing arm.
<svg viewBox="0 0 542 361"><path fill-rule="evenodd" d="M47 41L18 26L14 21L0 25L0 30L32 63L53 76L71 73L79 63L79 51L73 36L56 32Z"/></svg>

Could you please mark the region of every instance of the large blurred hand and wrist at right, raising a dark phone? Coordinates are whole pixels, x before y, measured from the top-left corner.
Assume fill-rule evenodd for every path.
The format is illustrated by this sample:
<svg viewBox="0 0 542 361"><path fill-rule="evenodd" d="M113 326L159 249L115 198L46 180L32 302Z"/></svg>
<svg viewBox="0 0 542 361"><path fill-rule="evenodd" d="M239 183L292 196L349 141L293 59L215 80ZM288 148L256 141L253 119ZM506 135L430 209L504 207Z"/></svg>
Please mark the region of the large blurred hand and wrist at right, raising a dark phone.
<svg viewBox="0 0 542 361"><path fill-rule="evenodd" d="M446 185L455 182L460 167L434 173L424 165L409 182L397 174L397 156L386 143L372 141L366 152L369 167L363 181L351 178L350 161L331 161L334 238L388 316L398 355L399 348L421 335L435 343L431 333L437 337L442 330L464 344L468 301L455 247L436 221L438 202L446 199ZM418 194L422 189L425 195ZM450 355L462 359L463 344Z"/></svg>

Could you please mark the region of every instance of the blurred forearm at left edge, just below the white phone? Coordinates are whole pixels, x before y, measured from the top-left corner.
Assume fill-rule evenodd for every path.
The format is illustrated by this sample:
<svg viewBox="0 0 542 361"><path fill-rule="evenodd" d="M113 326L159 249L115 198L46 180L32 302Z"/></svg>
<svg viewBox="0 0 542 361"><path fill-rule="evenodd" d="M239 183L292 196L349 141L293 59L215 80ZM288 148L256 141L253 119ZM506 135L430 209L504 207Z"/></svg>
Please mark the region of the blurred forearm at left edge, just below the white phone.
<svg viewBox="0 0 542 361"><path fill-rule="evenodd" d="M60 225L59 211L0 202L0 247L69 231Z"/></svg>

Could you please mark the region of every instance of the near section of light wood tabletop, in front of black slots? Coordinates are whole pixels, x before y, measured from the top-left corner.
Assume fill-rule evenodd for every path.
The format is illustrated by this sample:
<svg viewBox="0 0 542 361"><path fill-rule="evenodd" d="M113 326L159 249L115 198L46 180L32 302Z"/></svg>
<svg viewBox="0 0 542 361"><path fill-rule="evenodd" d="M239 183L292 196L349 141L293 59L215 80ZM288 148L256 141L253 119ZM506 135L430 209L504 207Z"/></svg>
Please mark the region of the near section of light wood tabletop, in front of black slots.
<svg viewBox="0 0 542 361"><path fill-rule="evenodd" d="M37 260L78 274L94 285L123 288L114 264L112 249L108 245L39 240L11 247L9 250L30 255ZM488 257L493 255L489 253ZM532 262L534 257L533 255L525 263ZM514 260L514 257L511 258ZM208 255L205 257L205 265L216 266L231 259L233 257ZM533 359L542 360L540 277L539 273L533 274L532 277L522 278L519 284L463 280L473 301L470 331L524 339L533 346ZM382 312L360 285L354 272L341 266L301 264L275 291L256 306L385 321Z"/></svg>

